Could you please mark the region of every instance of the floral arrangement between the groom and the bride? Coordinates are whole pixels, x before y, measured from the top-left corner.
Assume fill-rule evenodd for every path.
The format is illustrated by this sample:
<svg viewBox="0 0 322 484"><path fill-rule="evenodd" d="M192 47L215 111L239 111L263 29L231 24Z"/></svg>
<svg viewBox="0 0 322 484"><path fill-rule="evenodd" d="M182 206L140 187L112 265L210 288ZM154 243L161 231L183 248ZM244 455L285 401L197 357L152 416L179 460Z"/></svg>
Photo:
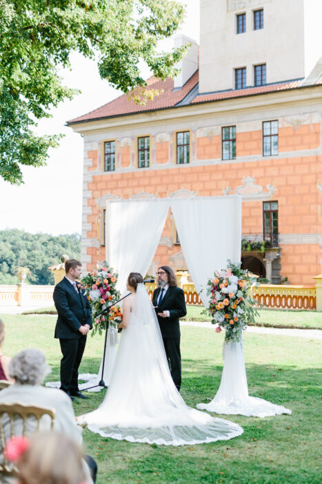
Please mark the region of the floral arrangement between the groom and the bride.
<svg viewBox="0 0 322 484"><path fill-rule="evenodd" d="M111 326L117 327L122 321L121 308L113 306L108 315L100 314L108 306L112 306L113 301L120 298L120 292L117 290L118 274L113 268L108 267L108 263L103 261L97 265L96 269L88 272L87 276L81 279L85 286L86 295L92 309L94 320L92 336L99 332L105 331L107 319Z"/></svg>

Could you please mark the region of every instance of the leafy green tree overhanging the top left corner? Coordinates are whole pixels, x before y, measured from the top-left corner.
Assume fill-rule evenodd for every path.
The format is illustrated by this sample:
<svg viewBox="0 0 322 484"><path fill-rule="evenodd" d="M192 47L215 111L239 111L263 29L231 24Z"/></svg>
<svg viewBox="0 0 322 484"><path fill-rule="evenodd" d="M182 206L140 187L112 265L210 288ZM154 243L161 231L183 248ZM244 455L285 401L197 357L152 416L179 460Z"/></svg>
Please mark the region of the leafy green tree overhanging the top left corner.
<svg viewBox="0 0 322 484"><path fill-rule="evenodd" d="M57 73L72 51L98 56L101 77L128 93L146 85L140 59L160 79L177 74L187 48L158 53L157 43L183 15L173 0L0 0L0 176L23 183L21 165L45 165L58 145L61 136L37 136L32 127L78 92Z"/></svg>

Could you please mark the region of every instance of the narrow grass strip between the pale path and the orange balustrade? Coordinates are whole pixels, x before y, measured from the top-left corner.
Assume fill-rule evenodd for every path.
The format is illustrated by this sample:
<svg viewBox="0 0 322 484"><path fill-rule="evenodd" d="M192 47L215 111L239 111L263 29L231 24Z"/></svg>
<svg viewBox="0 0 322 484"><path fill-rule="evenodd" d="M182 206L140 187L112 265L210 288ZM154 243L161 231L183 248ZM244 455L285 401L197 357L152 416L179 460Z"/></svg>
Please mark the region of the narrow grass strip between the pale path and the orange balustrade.
<svg viewBox="0 0 322 484"><path fill-rule="evenodd" d="M185 321L211 321L208 314L201 314L203 306L187 306ZM260 309L255 318L256 326L319 328L322 329L322 312L314 310Z"/></svg>

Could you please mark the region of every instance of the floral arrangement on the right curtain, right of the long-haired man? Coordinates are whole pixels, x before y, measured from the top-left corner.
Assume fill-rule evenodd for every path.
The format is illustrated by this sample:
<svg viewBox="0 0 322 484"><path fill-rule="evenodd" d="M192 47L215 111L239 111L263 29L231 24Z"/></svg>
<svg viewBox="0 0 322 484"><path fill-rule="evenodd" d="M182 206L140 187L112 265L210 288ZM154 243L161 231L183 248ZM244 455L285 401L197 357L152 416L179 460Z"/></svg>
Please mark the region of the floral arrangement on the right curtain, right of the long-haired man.
<svg viewBox="0 0 322 484"><path fill-rule="evenodd" d="M257 277L241 269L241 263L228 261L227 269L214 272L214 279L208 281L208 296L210 304L206 312L212 316L212 324L216 324L217 333L225 329L225 342L239 342L241 333L247 322L254 323L257 315L252 298L251 287Z"/></svg>

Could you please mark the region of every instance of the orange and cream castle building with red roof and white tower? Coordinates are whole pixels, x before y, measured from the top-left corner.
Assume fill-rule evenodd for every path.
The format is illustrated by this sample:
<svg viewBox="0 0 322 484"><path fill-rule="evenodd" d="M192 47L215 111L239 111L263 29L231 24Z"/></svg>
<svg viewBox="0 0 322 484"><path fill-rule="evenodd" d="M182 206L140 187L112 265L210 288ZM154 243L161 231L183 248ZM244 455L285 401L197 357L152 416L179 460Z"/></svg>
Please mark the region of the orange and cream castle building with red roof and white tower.
<svg viewBox="0 0 322 484"><path fill-rule="evenodd" d="M108 200L240 194L243 266L312 285L322 263L321 1L200 8L200 46L176 38L191 42L189 55L175 80L148 80L154 100L121 95L68 122L84 139L82 262L105 259ZM162 264L187 269L171 214L149 274Z"/></svg>

